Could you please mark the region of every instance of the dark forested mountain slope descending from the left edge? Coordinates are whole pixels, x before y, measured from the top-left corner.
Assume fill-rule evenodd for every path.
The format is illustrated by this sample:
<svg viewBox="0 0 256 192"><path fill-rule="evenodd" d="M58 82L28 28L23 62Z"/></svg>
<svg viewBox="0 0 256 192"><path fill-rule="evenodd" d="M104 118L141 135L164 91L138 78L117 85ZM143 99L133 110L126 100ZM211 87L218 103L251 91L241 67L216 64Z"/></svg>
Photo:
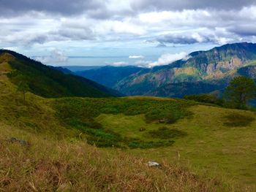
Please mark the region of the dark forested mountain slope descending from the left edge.
<svg viewBox="0 0 256 192"><path fill-rule="evenodd" d="M0 60L12 68L8 77L16 85L25 81L32 93L47 98L63 96L108 97L117 91L74 74L64 74L50 66L10 50L0 50Z"/></svg>

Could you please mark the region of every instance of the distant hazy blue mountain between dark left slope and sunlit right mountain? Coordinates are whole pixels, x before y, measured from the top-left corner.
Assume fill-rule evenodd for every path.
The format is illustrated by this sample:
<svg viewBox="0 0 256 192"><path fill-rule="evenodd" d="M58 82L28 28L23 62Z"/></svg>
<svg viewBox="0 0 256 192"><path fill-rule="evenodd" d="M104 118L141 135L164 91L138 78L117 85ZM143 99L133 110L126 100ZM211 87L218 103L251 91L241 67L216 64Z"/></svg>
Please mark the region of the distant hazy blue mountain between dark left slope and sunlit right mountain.
<svg viewBox="0 0 256 192"><path fill-rule="evenodd" d="M124 77L140 72L141 69L143 68L137 66L104 66L98 69L76 72L76 74L112 88Z"/></svg>

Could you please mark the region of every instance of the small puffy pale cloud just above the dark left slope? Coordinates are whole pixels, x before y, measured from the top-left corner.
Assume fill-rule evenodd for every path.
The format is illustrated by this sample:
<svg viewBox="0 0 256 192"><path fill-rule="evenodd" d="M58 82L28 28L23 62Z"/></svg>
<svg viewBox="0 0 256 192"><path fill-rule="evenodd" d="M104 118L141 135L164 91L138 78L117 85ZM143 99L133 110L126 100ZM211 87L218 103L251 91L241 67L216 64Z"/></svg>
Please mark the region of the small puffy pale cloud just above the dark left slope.
<svg viewBox="0 0 256 192"><path fill-rule="evenodd" d="M65 63L68 61L68 57L61 50L52 50L49 56L41 56L34 58L37 61L42 62L42 64L56 64Z"/></svg>

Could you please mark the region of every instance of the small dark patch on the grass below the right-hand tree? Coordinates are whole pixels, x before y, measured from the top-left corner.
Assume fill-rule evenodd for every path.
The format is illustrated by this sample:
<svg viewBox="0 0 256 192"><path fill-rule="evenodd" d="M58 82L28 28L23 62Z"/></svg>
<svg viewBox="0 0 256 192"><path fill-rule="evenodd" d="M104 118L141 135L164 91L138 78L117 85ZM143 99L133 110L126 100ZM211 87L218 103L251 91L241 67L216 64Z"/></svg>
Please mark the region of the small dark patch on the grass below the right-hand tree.
<svg viewBox="0 0 256 192"><path fill-rule="evenodd" d="M225 116L225 120L227 120L224 125L229 127L243 127L251 125L252 121L255 118L252 118L247 115L241 115L238 113L232 113L230 115Z"/></svg>

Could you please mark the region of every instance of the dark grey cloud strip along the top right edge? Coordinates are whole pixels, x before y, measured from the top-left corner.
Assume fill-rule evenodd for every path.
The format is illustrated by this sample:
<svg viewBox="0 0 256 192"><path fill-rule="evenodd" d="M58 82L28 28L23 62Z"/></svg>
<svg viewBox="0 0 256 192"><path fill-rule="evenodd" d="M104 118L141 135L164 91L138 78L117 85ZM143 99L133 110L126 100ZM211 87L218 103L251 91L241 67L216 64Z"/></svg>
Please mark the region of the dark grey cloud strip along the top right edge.
<svg viewBox="0 0 256 192"><path fill-rule="evenodd" d="M255 0L132 0L136 10L241 9L255 4Z"/></svg>

